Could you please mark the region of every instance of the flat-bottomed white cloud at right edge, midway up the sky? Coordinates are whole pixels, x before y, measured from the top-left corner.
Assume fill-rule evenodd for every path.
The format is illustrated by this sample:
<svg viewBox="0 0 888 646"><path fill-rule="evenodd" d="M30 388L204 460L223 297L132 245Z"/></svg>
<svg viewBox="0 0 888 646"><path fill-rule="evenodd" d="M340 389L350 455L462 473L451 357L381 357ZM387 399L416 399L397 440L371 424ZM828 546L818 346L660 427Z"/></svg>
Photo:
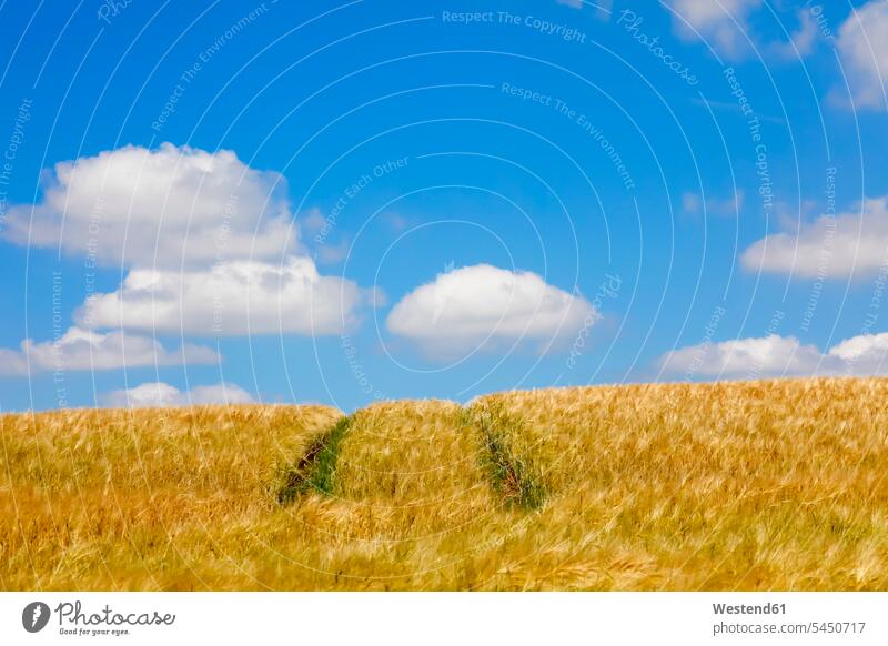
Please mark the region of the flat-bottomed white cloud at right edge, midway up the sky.
<svg viewBox="0 0 888 646"><path fill-rule="evenodd" d="M888 196L867 200L856 213L821 215L798 233L775 233L741 256L749 271L803 277L848 279L884 271L888 263Z"/></svg>

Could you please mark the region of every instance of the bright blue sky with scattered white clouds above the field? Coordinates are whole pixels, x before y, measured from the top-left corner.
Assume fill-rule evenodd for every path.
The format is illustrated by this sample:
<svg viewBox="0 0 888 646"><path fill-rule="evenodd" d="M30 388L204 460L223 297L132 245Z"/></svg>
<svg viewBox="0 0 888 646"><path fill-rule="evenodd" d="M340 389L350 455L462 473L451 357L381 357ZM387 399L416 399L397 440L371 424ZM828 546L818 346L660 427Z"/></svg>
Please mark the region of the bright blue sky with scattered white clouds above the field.
<svg viewBox="0 0 888 646"><path fill-rule="evenodd" d="M2 410L888 367L880 0L0 31Z"/></svg>

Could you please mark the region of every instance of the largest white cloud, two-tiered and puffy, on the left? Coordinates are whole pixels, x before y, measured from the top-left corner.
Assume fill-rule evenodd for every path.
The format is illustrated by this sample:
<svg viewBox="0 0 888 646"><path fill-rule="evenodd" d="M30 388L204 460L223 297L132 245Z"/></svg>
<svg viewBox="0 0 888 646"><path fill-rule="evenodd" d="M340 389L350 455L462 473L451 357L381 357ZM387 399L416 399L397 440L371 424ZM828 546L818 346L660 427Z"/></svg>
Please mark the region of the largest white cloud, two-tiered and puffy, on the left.
<svg viewBox="0 0 888 646"><path fill-rule="evenodd" d="M129 272L77 310L83 329L333 334L376 296L321 275L297 249L282 175L231 151L128 145L58 163L42 185L38 204L10 210L4 235Z"/></svg>

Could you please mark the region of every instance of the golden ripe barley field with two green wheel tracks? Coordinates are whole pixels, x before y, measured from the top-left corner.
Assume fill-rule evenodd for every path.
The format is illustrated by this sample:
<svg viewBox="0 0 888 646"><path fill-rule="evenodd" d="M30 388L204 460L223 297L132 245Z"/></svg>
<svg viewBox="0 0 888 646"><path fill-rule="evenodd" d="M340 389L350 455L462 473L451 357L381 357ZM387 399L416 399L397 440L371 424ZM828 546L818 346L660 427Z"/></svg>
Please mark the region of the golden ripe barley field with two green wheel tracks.
<svg viewBox="0 0 888 646"><path fill-rule="evenodd" d="M0 416L0 587L888 589L888 380Z"/></svg>

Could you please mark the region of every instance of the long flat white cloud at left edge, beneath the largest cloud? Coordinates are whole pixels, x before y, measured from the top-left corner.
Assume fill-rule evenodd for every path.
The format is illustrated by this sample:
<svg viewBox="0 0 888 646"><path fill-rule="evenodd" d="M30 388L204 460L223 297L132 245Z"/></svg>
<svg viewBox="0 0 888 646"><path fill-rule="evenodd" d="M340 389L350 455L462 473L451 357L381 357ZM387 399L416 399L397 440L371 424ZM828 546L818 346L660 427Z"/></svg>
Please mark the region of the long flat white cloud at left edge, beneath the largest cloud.
<svg viewBox="0 0 888 646"><path fill-rule="evenodd" d="M28 339L21 350L0 349L0 374L27 375L29 361L31 372L51 372L206 364L218 363L219 356L201 345L185 344L171 351L148 336L71 327L54 342Z"/></svg>

